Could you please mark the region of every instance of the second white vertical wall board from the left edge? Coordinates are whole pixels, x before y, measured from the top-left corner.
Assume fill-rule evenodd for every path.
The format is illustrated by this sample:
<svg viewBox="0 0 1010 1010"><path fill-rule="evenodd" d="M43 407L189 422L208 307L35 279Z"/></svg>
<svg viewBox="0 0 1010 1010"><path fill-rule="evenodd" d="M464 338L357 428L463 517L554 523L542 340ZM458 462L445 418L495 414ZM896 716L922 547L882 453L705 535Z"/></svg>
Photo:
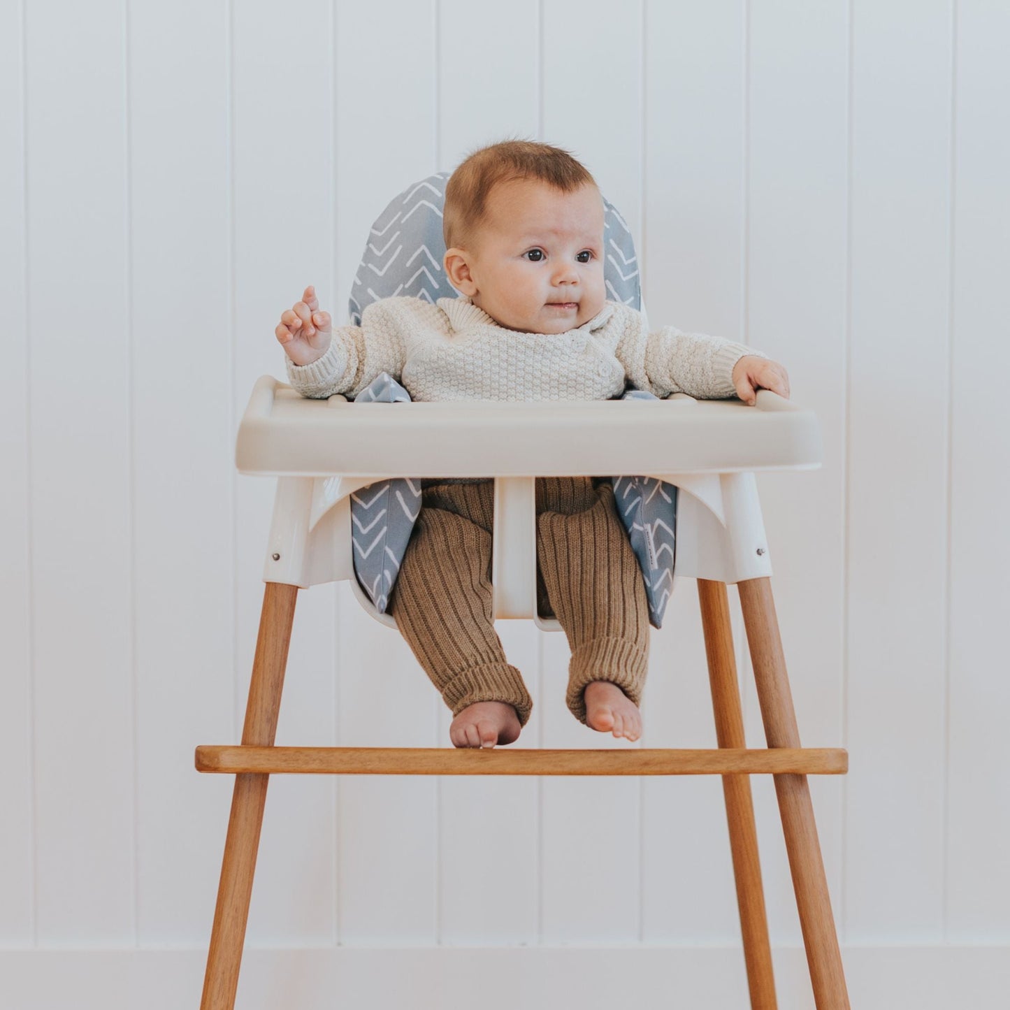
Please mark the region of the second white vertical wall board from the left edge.
<svg viewBox="0 0 1010 1010"><path fill-rule="evenodd" d="M133 936L123 10L27 7L38 938Z"/></svg>

